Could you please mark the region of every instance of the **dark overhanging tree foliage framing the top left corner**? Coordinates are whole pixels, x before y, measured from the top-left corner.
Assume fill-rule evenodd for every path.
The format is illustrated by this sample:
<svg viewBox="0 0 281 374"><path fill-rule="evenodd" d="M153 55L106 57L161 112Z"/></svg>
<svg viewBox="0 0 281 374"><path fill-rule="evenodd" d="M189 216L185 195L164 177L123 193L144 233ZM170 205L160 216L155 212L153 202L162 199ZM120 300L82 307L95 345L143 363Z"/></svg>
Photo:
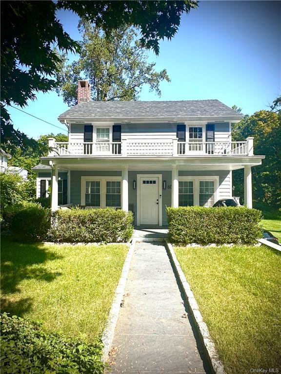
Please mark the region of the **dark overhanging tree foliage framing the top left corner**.
<svg viewBox="0 0 281 374"><path fill-rule="evenodd" d="M36 93L57 87L54 79L60 51L78 52L79 44L64 30L56 12L70 10L86 18L110 36L124 24L140 30L140 42L159 53L159 40L171 39L178 31L183 13L198 6L197 0L184 1L2 1L1 2L1 140L2 148L12 145L28 148L30 141L16 130L6 109L21 107ZM36 143L33 142L33 146Z"/></svg>

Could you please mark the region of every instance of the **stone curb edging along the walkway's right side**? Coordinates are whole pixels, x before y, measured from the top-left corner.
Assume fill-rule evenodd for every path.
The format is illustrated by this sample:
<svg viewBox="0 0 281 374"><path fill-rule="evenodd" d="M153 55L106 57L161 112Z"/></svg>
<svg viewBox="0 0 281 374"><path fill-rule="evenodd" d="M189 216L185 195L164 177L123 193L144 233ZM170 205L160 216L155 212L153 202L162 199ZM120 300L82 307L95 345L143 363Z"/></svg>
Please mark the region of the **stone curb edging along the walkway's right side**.
<svg viewBox="0 0 281 374"><path fill-rule="evenodd" d="M211 364L211 367L215 374L226 374L223 364L219 358L217 349L215 347L215 344L210 336L208 326L203 321L199 306L197 304L197 301L194 297L194 294L190 288L190 285L188 281L185 278L185 275L183 274L183 271L181 269L180 262L178 261L174 248L171 243L168 243L165 240L166 248L168 250L168 253L170 255L171 261L173 262L173 265L175 267L176 273L178 275L178 278L181 282L182 289L184 291L184 295L189 303L191 312L193 314L193 318L197 324L199 333L201 335L202 343L205 347L205 350L208 355L209 362Z"/></svg>

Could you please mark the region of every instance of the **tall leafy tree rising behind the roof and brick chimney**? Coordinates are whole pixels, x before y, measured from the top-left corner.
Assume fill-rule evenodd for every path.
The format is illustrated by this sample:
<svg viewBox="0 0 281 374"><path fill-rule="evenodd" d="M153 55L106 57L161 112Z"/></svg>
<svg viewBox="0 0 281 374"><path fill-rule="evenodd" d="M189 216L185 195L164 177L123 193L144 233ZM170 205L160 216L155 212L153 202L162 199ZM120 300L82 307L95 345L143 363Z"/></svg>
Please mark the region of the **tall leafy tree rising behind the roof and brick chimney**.
<svg viewBox="0 0 281 374"><path fill-rule="evenodd" d="M77 104L77 81L86 79L91 84L92 99L97 101L137 100L143 85L159 96L159 84L170 81L166 70L156 72L155 63L147 62L147 54L132 27L112 31L110 37L88 21L79 25L82 41L80 58L67 64L62 58L57 80L57 92L69 106Z"/></svg>

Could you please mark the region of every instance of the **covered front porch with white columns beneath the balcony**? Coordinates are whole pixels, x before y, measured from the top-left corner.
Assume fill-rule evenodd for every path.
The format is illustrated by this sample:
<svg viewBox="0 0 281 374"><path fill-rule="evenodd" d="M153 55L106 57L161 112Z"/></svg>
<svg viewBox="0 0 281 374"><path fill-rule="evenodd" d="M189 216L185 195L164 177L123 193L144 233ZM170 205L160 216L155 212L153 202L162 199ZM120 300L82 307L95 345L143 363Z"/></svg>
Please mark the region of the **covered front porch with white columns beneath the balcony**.
<svg viewBox="0 0 281 374"><path fill-rule="evenodd" d="M262 156L171 160L44 158L50 165L51 208L59 208L59 172L67 173L67 203L131 210L136 225L167 224L166 206L212 206L232 196L232 170L244 168L244 205L252 207L251 167Z"/></svg>

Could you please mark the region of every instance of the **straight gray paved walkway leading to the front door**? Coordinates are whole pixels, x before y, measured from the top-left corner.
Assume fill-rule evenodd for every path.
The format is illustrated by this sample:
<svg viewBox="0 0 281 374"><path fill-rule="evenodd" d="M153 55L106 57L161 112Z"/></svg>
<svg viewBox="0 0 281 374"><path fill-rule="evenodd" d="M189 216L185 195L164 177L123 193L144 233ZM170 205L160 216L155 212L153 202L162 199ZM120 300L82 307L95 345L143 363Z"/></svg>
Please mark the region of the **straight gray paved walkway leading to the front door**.
<svg viewBox="0 0 281 374"><path fill-rule="evenodd" d="M162 242L136 243L110 356L118 373L209 373Z"/></svg>

